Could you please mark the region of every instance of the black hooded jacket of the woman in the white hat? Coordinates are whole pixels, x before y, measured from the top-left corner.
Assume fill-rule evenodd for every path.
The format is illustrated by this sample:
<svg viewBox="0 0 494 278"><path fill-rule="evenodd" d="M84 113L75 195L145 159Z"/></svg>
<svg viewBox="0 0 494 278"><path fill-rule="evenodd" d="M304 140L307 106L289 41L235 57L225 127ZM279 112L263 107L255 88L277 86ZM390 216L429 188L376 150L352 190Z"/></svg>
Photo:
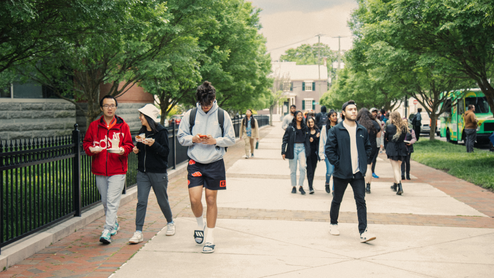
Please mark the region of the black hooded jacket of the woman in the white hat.
<svg viewBox="0 0 494 278"><path fill-rule="evenodd" d="M168 167L168 130L163 125L158 124L155 134L146 136L153 138L155 142L152 146L137 142L137 170L141 172L166 173Z"/></svg>

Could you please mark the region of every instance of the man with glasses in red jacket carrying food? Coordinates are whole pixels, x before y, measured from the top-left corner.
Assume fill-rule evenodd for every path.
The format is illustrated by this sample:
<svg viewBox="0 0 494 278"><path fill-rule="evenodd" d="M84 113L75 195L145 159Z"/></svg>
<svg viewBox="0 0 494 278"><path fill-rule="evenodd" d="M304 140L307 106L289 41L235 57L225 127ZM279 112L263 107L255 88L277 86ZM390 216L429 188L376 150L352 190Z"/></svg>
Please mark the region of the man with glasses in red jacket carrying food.
<svg viewBox="0 0 494 278"><path fill-rule="evenodd" d="M89 124L82 146L84 152L92 157L91 172L96 175L96 186L106 214L106 223L99 241L110 243L111 236L117 235L120 230L117 211L125 185L127 156L134 144L128 124L115 115L117 100L106 95L99 105L103 116Z"/></svg>

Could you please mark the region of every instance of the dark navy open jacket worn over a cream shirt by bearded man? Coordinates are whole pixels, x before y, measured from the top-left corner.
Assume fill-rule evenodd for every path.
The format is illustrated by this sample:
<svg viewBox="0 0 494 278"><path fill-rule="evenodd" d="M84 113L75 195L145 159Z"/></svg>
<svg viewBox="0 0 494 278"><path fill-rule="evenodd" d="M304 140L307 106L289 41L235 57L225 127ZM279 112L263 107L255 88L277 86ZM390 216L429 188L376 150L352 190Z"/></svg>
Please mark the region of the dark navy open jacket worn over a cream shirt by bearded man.
<svg viewBox="0 0 494 278"><path fill-rule="evenodd" d="M359 153L360 172L367 172L367 160L371 156L371 141L367 129L357 122L357 151ZM325 148L326 157L334 165L333 176L340 179L353 178L352 158L350 151L350 134L343 126L343 121L328 131Z"/></svg>

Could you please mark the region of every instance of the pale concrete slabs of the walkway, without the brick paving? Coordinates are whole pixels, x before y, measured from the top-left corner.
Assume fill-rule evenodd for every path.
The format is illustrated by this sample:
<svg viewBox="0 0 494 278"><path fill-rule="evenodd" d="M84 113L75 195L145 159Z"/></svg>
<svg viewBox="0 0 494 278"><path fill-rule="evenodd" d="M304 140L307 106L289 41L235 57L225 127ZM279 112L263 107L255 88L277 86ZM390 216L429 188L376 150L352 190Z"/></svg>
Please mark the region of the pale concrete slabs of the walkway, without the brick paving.
<svg viewBox="0 0 494 278"><path fill-rule="evenodd" d="M216 224L217 247L213 254L201 253L202 246L193 238L197 224L191 211L184 210L183 217L176 219L175 236L158 234L113 277L451 278L492 275L493 229L385 225L370 221L369 230L377 239L360 243L350 187L345 192L341 215L347 213L353 220L340 222L340 236L329 235L332 197L324 192L325 165L318 164L314 195L291 194L288 160L281 159L280 155L282 135L283 130L278 125L271 128L260 140L255 159L240 158L227 167L227 190L218 194L222 218ZM389 190L390 182L381 182L387 176L392 177L390 169L389 162L381 157L376 172L383 178L374 179L372 194L366 196L370 218L418 216L440 222L442 218L462 215L483 219L492 227L492 218L422 182L414 171L414 179L404 184L405 194L396 196ZM263 213L271 214L270 220L255 217ZM292 218L283 217L286 214L292 214ZM273 217L277 215L279 217ZM317 222L311 219L315 215L320 217ZM326 219L321 219L322 216Z"/></svg>

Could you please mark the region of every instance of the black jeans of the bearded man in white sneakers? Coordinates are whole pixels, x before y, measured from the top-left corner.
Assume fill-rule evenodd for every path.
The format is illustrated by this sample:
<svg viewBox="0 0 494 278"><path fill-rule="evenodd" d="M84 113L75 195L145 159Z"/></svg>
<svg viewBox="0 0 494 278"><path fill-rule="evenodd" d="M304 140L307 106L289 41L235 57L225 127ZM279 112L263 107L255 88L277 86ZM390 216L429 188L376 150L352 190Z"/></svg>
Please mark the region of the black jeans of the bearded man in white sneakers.
<svg viewBox="0 0 494 278"><path fill-rule="evenodd" d="M369 174L369 173L368 173ZM372 173L370 173L372 174ZM357 172L353 175L353 179L340 179L333 176L334 185L334 197L331 202L331 210L329 211L329 217L331 218L331 224L338 224L339 206L343 199L348 183L353 189L353 198L357 204L357 217L359 218L359 232L364 233L367 229L367 207L366 200L366 182L361 172Z"/></svg>

